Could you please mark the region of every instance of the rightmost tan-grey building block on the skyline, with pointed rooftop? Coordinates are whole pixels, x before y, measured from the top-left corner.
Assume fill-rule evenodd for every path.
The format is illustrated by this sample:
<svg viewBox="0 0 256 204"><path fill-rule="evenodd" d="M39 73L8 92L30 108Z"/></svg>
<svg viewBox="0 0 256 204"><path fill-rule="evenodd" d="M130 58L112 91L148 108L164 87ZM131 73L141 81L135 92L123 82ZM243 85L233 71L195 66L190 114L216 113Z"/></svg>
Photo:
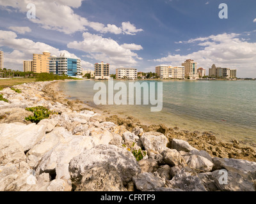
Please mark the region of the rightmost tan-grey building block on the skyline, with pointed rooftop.
<svg viewBox="0 0 256 204"><path fill-rule="evenodd" d="M236 73L237 69L217 68L215 64L212 64L212 68L209 68L209 77L236 78Z"/></svg>

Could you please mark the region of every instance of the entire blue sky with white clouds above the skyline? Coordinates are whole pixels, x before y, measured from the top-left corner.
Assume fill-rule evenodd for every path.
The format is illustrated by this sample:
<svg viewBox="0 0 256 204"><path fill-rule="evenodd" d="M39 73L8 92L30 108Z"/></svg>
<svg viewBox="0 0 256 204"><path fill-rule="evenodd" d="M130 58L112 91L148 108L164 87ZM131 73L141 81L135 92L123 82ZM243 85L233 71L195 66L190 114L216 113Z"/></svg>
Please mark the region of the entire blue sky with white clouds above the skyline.
<svg viewBox="0 0 256 204"><path fill-rule="evenodd" d="M0 50L4 67L20 71L47 50L80 58L83 69L104 61L110 73L193 59L206 73L216 64L256 78L256 1L0 0Z"/></svg>

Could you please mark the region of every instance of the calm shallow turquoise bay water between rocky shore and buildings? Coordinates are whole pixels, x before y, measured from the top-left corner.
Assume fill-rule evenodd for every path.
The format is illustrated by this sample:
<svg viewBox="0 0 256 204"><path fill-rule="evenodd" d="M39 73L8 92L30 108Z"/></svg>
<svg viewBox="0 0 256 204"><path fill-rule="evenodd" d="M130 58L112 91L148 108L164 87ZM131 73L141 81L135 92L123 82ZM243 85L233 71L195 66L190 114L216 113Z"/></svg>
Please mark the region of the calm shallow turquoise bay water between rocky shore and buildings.
<svg viewBox="0 0 256 204"><path fill-rule="evenodd" d="M163 81L161 112L150 112L151 105L95 106L94 84L95 81L63 82L60 89L95 108L131 115L145 124L163 123L201 133L211 131L227 142L236 139L247 145L256 143L255 81Z"/></svg>

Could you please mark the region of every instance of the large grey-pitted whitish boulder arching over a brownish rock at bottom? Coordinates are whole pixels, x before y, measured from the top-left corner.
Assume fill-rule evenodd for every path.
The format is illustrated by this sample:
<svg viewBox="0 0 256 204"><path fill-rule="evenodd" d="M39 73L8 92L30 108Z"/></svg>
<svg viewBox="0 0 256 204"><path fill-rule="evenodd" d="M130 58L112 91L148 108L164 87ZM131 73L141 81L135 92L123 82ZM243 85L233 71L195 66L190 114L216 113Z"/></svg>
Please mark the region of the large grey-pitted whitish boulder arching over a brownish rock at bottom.
<svg viewBox="0 0 256 204"><path fill-rule="evenodd" d="M68 169L73 184L79 186L88 170L100 166L102 163L115 166L124 186L141 171L131 152L114 145L98 145L90 150L85 150L70 161Z"/></svg>

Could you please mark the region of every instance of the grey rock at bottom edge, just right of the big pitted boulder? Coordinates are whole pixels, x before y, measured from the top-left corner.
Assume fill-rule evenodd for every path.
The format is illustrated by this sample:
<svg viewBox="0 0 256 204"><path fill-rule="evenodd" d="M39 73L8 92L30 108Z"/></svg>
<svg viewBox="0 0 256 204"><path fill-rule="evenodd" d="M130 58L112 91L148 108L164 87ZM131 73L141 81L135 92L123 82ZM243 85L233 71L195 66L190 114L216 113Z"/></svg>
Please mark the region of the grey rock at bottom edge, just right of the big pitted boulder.
<svg viewBox="0 0 256 204"><path fill-rule="evenodd" d="M137 176L132 177L136 189L140 191L152 191L158 189L159 187L164 187L165 182L159 177L154 176L153 173L140 173Z"/></svg>

